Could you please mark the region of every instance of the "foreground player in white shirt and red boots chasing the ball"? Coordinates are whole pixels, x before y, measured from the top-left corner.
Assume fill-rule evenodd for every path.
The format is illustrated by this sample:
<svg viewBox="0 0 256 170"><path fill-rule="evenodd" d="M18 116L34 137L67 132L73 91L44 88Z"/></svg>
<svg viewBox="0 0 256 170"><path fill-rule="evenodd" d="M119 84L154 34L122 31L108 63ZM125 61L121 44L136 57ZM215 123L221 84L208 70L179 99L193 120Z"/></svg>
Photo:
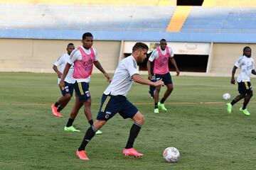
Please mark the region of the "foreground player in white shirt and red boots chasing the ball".
<svg viewBox="0 0 256 170"><path fill-rule="evenodd" d="M133 144L139 134L139 130L142 128L144 117L142 113L140 113L138 109L127 100L126 96L132 86L132 81L151 86L161 86L164 84L161 80L151 82L149 80L142 79L142 77L139 76L137 63L141 63L145 60L148 49L149 48L144 43L137 42L132 48L132 55L119 62L110 85L103 92L100 110L97 114L97 120L95 120L95 123L88 128L87 132L85 132L85 137L76 152L79 159L89 160L85 154L86 145L90 140L92 140L95 132L102 128L102 126L107 123L107 120L110 120L110 118L112 118L116 113L119 113L119 115L124 119L132 118L134 120L134 124L132 125L129 133L127 145L123 149L122 154L132 157L143 156L142 153L137 152L137 150L133 148Z"/></svg>

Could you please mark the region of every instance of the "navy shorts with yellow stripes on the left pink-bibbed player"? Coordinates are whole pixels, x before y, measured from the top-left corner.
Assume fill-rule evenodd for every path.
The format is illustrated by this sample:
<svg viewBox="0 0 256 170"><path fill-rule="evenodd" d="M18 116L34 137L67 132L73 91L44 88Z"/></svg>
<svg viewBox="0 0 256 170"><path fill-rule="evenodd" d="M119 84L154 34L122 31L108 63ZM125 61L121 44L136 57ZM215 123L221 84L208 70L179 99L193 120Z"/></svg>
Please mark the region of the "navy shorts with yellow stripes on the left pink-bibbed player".
<svg viewBox="0 0 256 170"><path fill-rule="evenodd" d="M75 93L78 94L78 98L80 101L85 102L90 99L90 91L89 91L89 84L86 82L79 82L75 81L73 84Z"/></svg>

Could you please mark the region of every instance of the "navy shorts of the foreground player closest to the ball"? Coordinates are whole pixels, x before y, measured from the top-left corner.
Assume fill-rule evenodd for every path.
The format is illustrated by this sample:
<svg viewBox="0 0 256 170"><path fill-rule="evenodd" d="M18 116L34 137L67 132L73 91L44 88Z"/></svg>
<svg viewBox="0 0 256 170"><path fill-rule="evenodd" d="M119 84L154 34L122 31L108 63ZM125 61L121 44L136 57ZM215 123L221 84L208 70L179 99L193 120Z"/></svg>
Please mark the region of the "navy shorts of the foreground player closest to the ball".
<svg viewBox="0 0 256 170"><path fill-rule="evenodd" d="M116 113L122 118L133 118L138 109L125 96L102 95L97 120L110 120Z"/></svg>

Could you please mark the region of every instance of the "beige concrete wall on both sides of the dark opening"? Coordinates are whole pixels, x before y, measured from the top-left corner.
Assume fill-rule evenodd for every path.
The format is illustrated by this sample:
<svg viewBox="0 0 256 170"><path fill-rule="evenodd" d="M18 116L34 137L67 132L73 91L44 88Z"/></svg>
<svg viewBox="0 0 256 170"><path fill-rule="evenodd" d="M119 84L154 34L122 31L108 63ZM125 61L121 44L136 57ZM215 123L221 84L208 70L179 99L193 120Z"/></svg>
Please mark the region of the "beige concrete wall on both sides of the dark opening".
<svg viewBox="0 0 256 170"><path fill-rule="evenodd" d="M0 72L53 72L53 63L66 52L69 42L75 47L81 44L80 40L0 39ZM230 76L245 46L252 48L252 57L256 60L256 44L213 43L209 72L203 75ZM107 72L114 72L119 62L121 42L95 41L93 47L97 49L102 67ZM93 72L100 71L94 68Z"/></svg>

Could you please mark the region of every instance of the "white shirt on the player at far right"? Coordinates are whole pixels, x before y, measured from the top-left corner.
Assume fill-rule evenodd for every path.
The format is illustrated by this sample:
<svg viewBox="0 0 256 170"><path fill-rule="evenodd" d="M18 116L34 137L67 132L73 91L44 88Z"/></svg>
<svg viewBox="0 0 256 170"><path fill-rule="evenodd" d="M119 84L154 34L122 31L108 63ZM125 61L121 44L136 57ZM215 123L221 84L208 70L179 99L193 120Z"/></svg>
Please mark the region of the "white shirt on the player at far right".
<svg viewBox="0 0 256 170"><path fill-rule="evenodd" d="M250 81L250 74L254 67L254 60L252 57L246 57L245 55L240 57L237 62L235 62L235 67L240 68L240 74L238 75L238 82Z"/></svg>

